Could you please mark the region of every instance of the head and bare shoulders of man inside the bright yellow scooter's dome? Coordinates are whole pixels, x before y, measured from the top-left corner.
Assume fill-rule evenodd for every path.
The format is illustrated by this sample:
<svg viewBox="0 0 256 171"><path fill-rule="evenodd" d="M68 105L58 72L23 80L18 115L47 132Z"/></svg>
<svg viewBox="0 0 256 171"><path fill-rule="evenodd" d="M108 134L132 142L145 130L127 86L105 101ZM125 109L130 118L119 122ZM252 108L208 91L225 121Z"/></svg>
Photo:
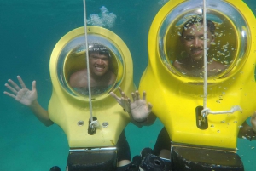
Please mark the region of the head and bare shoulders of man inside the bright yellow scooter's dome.
<svg viewBox="0 0 256 171"><path fill-rule="evenodd" d="M207 50L214 43L214 31L214 23L207 20ZM183 25L180 41L188 55L181 60L175 60L173 66L189 76L201 76L204 70L204 27L201 16L195 15ZM207 56L208 76L216 75L225 69L226 66Z"/></svg>

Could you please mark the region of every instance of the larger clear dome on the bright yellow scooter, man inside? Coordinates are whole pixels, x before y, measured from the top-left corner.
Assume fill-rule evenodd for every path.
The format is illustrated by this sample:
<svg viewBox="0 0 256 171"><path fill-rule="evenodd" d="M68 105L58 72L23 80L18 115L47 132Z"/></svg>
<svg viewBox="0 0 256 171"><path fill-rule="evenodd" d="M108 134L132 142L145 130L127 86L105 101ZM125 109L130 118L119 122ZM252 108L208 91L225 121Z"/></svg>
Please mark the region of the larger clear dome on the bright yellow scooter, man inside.
<svg viewBox="0 0 256 171"><path fill-rule="evenodd" d="M160 60L179 77L203 77L203 3L180 3L166 15L158 34ZM211 24L212 23L212 24ZM242 14L224 1L207 1L207 76L229 77L247 59L250 31Z"/></svg>

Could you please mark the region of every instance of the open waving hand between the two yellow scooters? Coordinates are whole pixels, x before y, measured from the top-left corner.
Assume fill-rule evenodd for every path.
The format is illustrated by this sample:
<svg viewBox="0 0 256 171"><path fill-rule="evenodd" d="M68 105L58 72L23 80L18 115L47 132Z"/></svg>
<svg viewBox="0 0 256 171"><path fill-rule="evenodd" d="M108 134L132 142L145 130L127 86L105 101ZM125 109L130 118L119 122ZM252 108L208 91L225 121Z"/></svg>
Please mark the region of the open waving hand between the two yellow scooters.
<svg viewBox="0 0 256 171"><path fill-rule="evenodd" d="M148 126L154 123L156 117L151 112L152 105L146 102L146 92L143 92L143 99L140 98L138 91L132 93L133 102L128 98L125 93L119 88L121 97L111 92L110 94L117 100L125 111L127 111L131 118L131 123L137 125L137 127Z"/></svg>

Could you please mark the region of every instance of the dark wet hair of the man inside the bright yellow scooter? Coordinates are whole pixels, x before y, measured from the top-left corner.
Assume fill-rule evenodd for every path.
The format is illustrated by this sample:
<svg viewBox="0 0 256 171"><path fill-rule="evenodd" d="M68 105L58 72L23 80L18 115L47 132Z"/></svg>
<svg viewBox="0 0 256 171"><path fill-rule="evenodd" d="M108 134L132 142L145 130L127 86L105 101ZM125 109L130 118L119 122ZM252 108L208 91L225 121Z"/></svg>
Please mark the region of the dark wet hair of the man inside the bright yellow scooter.
<svg viewBox="0 0 256 171"><path fill-rule="evenodd" d="M189 26L193 26L193 25L201 26L202 24L203 24L203 18L200 15L189 16L189 20L187 20L183 24L182 35L183 35L185 28L189 28ZM212 22L212 20L207 20L207 29L209 29L209 31L212 34L214 34L215 28L216 27L215 27L214 23Z"/></svg>

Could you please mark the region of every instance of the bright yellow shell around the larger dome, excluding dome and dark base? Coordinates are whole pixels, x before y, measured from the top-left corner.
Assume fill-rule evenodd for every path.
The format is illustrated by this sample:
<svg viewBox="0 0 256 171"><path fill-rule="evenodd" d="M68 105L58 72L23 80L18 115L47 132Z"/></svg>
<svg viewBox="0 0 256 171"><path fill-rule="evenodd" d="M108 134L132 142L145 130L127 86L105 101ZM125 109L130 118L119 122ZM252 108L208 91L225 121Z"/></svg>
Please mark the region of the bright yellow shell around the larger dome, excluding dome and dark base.
<svg viewBox="0 0 256 171"><path fill-rule="evenodd" d="M158 33L166 15L183 0L172 0L155 16L148 35L148 67L143 73L139 91L148 92L147 101L153 105L154 114L176 143L236 149L236 139L241 124L256 109L256 84L254 79L256 57L256 20L241 0L224 2L235 6L247 20L250 34L247 54L239 67L233 67L227 77L207 80L207 107L211 111L228 111L241 106L242 113L209 115L208 128L196 126L195 108L203 105L202 81L180 77L168 70L160 60ZM172 22L172 21L170 21ZM175 38L169 46L176 44ZM168 45L168 44L167 44ZM178 46L178 45L177 45ZM237 43L237 47L239 47ZM239 60L238 60L239 62Z"/></svg>

